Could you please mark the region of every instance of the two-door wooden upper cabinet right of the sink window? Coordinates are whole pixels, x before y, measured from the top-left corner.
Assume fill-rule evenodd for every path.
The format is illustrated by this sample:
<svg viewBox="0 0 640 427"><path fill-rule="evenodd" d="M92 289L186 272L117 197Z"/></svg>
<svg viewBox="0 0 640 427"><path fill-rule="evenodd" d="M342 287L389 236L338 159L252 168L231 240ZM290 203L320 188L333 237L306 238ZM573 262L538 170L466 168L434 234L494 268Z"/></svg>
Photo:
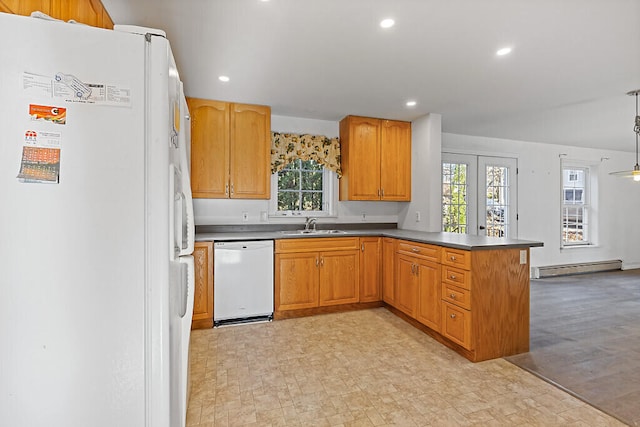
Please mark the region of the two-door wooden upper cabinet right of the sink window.
<svg viewBox="0 0 640 427"><path fill-rule="evenodd" d="M411 123L340 121L340 200L411 200Z"/></svg>

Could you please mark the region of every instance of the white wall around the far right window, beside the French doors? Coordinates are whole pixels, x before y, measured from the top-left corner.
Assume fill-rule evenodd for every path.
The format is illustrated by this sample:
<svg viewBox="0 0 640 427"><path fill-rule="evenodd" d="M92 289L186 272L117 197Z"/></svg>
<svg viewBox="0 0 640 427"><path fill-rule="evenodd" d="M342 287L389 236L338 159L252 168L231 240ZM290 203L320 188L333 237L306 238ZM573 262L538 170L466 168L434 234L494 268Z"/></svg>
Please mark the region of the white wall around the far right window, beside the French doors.
<svg viewBox="0 0 640 427"><path fill-rule="evenodd" d="M533 267L610 259L621 259L623 268L640 267L640 227L635 223L640 212L640 183L609 175L631 169L633 153L448 133L442 134L442 151L517 157L518 238L544 242L543 248L531 250ZM560 249L561 155L597 169L594 247Z"/></svg>

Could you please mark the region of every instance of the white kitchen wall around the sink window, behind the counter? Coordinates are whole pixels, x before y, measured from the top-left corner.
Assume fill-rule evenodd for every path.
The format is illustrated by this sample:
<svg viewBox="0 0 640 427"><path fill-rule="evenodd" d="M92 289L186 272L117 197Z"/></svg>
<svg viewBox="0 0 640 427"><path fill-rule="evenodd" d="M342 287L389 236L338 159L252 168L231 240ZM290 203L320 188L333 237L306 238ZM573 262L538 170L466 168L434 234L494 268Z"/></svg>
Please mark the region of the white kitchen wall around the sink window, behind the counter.
<svg viewBox="0 0 640 427"><path fill-rule="evenodd" d="M309 133L330 138L340 133L339 122L276 115L271 116L271 129L275 132ZM336 183L336 198L337 191ZM337 202L337 216L320 218L318 222L396 223L399 209L400 203L397 202ZM197 225L304 223L304 218L267 218L267 221L262 221L261 213L269 212L268 200L195 199L194 211ZM243 212L248 213L249 221L242 222Z"/></svg>

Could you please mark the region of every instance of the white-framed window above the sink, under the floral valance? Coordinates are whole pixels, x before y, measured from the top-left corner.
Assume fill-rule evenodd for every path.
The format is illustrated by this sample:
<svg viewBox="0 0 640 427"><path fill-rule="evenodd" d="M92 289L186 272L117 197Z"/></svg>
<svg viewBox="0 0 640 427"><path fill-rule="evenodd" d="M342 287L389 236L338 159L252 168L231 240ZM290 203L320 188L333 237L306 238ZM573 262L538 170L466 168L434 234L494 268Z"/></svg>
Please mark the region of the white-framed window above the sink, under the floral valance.
<svg viewBox="0 0 640 427"><path fill-rule="evenodd" d="M272 215L322 216L330 213L331 176L313 160L295 160L273 174ZM275 206L273 206L275 205Z"/></svg>

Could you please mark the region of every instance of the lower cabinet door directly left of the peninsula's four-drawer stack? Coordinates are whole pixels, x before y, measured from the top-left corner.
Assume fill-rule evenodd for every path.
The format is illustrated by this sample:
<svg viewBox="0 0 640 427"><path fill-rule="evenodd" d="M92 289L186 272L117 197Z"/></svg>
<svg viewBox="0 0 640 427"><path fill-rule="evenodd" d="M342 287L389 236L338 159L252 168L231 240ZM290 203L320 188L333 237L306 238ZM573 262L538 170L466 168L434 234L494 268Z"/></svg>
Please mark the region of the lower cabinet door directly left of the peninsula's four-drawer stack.
<svg viewBox="0 0 640 427"><path fill-rule="evenodd" d="M440 332L442 322L440 286L440 264L429 261L418 261L418 313L417 320Z"/></svg>

